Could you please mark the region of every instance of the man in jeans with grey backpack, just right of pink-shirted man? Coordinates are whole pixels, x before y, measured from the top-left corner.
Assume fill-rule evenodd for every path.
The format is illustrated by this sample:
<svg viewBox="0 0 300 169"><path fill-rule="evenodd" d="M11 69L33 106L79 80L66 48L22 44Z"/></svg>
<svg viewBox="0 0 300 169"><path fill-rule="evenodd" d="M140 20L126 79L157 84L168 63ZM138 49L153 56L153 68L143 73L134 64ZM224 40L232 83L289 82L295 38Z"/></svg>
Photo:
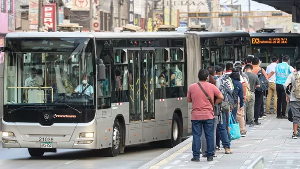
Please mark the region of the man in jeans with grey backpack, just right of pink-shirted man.
<svg viewBox="0 0 300 169"><path fill-rule="evenodd" d="M229 100L232 101L232 103L234 103L233 97L230 96L228 93L231 93L232 91L229 89L229 87L226 84L226 79L223 78L223 68L221 68L220 66L215 66L215 75L214 78L216 80L216 86L217 88L221 91L221 93L223 94L223 101L224 102L228 102L230 103ZM229 98L231 97L231 98ZM222 102L223 102L222 101ZM226 104L221 102L221 106L225 106ZM222 113L220 114L220 118L219 118L219 124L218 124L218 129L219 129L219 133L220 133L220 139L222 141L222 145L225 148L225 154L232 154L232 150L230 149L230 141L228 138L228 131L226 129L228 129L227 124L228 119L226 119L226 113L228 114L231 110L228 110L228 108L223 108L222 107ZM227 128L226 128L227 127Z"/></svg>

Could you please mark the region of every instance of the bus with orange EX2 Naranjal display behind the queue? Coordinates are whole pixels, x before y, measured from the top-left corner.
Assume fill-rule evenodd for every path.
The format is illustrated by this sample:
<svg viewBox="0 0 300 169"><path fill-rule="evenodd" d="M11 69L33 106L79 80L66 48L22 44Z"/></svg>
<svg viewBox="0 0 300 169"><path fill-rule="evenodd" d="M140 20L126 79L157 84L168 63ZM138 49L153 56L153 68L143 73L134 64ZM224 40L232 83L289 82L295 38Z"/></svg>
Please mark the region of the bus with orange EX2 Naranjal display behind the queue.
<svg viewBox="0 0 300 169"><path fill-rule="evenodd" d="M250 33L252 54L262 61L261 67L267 68L271 63L271 57L277 56L282 62L282 56L290 57L290 65L294 67L296 60L300 58L300 34L275 33L275 29L262 28L256 33Z"/></svg>

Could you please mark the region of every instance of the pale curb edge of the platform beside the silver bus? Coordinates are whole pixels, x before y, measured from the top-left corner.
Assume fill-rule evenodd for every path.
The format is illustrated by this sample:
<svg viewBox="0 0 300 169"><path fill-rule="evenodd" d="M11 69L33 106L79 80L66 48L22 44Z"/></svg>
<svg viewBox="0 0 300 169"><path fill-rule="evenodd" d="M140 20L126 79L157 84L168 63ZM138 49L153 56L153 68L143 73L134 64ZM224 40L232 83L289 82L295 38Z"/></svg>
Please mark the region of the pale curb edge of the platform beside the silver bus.
<svg viewBox="0 0 300 169"><path fill-rule="evenodd" d="M164 152L160 156L158 156L155 159L151 160L150 162L144 164L143 166L141 166L138 169L149 169L149 168L151 168L152 166L158 164L159 162L166 159L170 155L174 154L176 151L178 151L178 150L182 149L183 147L185 147L186 145L188 145L190 142L192 142L192 140L193 140L193 137L191 136L188 139L181 142L180 144L176 145L175 147L167 150L166 152Z"/></svg>

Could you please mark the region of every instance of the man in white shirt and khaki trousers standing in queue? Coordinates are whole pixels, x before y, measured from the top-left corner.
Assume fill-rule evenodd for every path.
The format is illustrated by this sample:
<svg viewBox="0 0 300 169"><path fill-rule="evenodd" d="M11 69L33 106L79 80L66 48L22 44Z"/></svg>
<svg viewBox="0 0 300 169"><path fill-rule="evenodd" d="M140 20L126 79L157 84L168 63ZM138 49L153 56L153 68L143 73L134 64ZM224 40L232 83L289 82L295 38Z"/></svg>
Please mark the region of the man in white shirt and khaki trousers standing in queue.
<svg viewBox="0 0 300 169"><path fill-rule="evenodd" d="M276 93L276 75L275 73L271 75L271 72L275 72L275 68L278 62L277 56L273 56L271 58L272 63L267 66L266 73L268 75L268 82L269 86L267 88L267 114L271 114L271 99L272 96L274 97L273 100L273 107L274 107L274 113L277 112L277 93Z"/></svg>

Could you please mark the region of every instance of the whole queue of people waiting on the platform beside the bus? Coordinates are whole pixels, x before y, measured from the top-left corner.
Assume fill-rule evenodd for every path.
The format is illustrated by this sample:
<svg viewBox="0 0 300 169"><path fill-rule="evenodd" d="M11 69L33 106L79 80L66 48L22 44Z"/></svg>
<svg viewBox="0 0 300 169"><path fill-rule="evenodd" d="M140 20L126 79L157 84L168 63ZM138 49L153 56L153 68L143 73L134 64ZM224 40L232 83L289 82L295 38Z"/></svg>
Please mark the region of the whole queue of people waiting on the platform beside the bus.
<svg viewBox="0 0 300 169"><path fill-rule="evenodd" d="M300 61L295 63L297 72L294 72L295 69L289 66L289 56L283 56L280 64L275 56L271 60L267 71L260 67L260 59L252 55L234 64L229 61L226 65L219 63L200 69L199 82L192 84L187 94L187 101L192 102L192 161L200 161L200 154L207 161L213 161L215 152L221 150L220 141L225 154L232 154L228 132L230 115L238 122L240 135L248 136L246 124L249 127L261 125L259 120L266 116L263 102L267 90L267 114L272 113L270 100L274 97L273 113L279 119L286 119L286 101L290 101L292 138L300 135ZM226 96L220 84L226 84L234 96L235 105L229 111L222 109L221 103ZM217 111L221 113L217 115Z"/></svg>

